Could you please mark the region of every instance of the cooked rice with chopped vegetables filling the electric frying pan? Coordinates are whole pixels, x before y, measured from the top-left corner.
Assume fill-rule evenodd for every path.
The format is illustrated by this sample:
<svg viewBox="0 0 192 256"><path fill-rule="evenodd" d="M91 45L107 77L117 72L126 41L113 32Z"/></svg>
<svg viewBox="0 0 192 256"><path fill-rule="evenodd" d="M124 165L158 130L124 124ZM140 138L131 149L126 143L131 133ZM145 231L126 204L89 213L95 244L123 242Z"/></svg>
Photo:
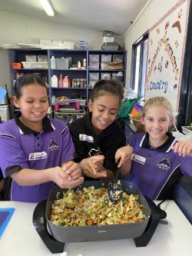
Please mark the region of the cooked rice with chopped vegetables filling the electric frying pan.
<svg viewBox="0 0 192 256"><path fill-rule="evenodd" d="M112 204L107 188L69 189L63 198L55 200L51 206L50 221L58 226L91 226L104 224L124 224L143 221L146 216L138 194L123 192L122 200Z"/></svg>

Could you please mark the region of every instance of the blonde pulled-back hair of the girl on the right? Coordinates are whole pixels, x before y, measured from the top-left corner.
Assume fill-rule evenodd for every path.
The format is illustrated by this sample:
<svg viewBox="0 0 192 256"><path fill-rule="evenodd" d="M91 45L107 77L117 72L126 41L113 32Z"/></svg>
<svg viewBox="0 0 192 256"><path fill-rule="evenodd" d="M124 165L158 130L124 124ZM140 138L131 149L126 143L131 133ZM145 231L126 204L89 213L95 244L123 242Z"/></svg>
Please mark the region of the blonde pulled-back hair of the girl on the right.
<svg viewBox="0 0 192 256"><path fill-rule="evenodd" d="M174 120L174 115L173 115L173 112L172 112L172 106L171 106L170 102L167 100L167 98L164 98L164 97L154 97L154 98L148 99L145 102L144 108L143 108L143 111L142 111L143 117L145 116L146 111L148 110L148 108L150 108L151 106L157 106L157 105L161 105L164 108L167 108L167 110L170 113L170 115L169 115L170 120Z"/></svg>

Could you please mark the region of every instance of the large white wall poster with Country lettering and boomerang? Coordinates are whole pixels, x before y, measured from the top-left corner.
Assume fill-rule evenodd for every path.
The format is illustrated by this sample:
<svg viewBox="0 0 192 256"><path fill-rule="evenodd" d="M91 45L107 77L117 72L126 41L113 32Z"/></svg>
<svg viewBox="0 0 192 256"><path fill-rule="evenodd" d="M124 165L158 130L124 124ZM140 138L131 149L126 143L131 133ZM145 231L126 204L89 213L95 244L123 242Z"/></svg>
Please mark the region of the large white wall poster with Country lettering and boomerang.
<svg viewBox="0 0 192 256"><path fill-rule="evenodd" d="M189 0L177 2L149 31L145 99L166 97L177 111Z"/></svg>

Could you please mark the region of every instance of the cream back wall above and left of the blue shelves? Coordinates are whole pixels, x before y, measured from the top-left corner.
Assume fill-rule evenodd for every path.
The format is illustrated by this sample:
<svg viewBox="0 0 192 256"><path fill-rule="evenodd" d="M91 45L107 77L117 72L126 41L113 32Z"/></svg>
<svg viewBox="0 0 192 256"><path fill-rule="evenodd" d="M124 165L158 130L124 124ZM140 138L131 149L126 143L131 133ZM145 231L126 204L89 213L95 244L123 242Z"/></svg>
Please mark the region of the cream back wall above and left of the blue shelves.
<svg viewBox="0 0 192 256"><path fill-rule="evenodd" d="M101 49L103 31L95 32L88 29L0 12L0 35L0 45L14 43L39 44L39 39L41 38L73 42L87 40L90 49ZM114 36L115 42L118 42L123 47L123 37ZM5 88L5 84L7 84L8 94L10 95L8 50L0 48L0 60L0 86Z"/></svg>

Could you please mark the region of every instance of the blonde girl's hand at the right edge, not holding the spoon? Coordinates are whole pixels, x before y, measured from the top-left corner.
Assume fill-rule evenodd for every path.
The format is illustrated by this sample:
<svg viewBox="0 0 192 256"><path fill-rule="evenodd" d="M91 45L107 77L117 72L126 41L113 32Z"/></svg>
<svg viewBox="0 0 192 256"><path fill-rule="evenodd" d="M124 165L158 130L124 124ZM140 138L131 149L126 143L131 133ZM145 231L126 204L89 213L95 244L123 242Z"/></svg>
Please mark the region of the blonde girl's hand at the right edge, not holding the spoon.
<svg viewBox="0 0 192 256"><path fill-rule="evenodd" d="M185 157L186 155L192 156L192 142L191 141L179 141L171 147L175 153Z"/></svg>

